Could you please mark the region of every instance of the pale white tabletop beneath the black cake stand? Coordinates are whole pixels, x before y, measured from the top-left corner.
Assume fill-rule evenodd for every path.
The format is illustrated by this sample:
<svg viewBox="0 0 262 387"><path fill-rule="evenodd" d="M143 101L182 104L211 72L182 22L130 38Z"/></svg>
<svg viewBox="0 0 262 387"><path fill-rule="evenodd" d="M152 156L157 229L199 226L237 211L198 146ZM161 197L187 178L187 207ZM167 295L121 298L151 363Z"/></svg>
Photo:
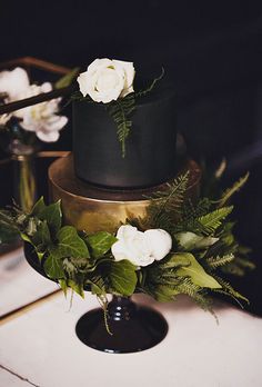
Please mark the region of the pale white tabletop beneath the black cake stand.
<svg viewBox="0 0 262 387"><path fill-rule="evenodd" d="M41 295L46 298L21 308L20 297L21 309L0 320L1 387L262 386L261 318L215 301L218 325L187 297L159 304L138 295L138 302L164 315L167 338L142 353L104 354L84 346L74 334L80 316L98 306L95 297L75 296L70 309L69 300L60 291L53 294L49 280L41 278L40 285L39 275L28 265L19 270L8 285L13 289L9 296L13 309L20 290L26 295L22 277L27 277L30 302ZM2 296L3 286L0 289ZM28 304L26 296L23 304Z"/></svg>

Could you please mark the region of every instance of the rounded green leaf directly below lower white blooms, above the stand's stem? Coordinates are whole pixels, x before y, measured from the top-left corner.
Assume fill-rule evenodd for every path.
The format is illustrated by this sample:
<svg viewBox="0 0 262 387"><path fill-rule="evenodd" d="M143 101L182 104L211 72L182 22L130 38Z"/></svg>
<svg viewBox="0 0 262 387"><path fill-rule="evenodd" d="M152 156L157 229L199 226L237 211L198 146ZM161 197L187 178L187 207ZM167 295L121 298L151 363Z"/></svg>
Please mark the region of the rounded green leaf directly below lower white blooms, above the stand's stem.
<svg viewBox="0 0 262 387"><path fill-rule="evenodd" d="M135 269L129 260L112 261L110 282L117 294L128 297L134 292L138 281Z"/></svg>

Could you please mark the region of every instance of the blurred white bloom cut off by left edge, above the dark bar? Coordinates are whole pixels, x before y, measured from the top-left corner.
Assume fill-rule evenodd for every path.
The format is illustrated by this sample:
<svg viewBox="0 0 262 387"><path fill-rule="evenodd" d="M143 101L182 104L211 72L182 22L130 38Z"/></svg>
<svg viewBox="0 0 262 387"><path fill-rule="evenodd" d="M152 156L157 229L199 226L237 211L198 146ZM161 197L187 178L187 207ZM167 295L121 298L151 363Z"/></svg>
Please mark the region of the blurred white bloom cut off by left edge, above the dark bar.
<svg viewBox="0 0 262 387"><path fill-rule="evenodd" d="M7 93L7 101L17 100L17 96L30 86L28 73L24 69L17 67L14 70L0 72L0 93Z"/></svg>

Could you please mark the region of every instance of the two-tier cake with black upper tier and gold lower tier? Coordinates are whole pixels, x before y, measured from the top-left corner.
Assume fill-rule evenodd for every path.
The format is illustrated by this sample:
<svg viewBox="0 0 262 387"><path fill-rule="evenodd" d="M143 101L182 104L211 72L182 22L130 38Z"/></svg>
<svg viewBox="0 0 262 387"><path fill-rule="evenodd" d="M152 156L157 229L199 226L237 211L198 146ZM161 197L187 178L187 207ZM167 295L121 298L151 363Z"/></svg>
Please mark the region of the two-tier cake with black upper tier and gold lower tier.
<svg viewBox="0 0 262 387"><path fill-rule="evenodd" d="M124 101L133 98L132 112L125 117L131 126L123 157L119 126L110 115L110 105L99 98L93 100L99 93L104 97L98 90L101 82L97 72L99 70L100 77L104 76L99 66L100 62L107 64L107 61L109 76L102 85L107 88L112 83L111 63L114 66L118 61L95 60L94 70L92 63L82 73L85 83L81 88L79 82L82 95L74 98L72 107L73 152L57 160L49 170L51 200L61 199L64 221L89 234L100 230L115 232L127 219L145 217L150 195L164 190L167 182L185 170L191 170L188 195L196 194L200 179L198 166L192 160L183 159L181 162L178 157L177 96L167 79L153 81L148 88L150 82L138 77L138 85L123 83L129 90L127 97L120 95L110 101L119 109L121 119ZM127 63L121 62L123 67ZM84 78L85 75L89 78ZM85 97L87 85L90 92ZM147 92L137 92L141 88Z"/></svg>

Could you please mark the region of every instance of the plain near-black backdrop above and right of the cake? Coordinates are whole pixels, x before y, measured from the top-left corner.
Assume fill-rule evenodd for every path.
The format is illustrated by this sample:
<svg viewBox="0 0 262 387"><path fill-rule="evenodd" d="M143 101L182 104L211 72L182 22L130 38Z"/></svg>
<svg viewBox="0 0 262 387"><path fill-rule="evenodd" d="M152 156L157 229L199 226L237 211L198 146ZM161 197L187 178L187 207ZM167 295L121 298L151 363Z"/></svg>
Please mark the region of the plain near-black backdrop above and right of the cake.
<svg viewBox="0 0 262 387"><path fill-rule="evenodd" d="M258 269L240 289L261 315L262 4L0 0L0 61L32 56L84 69L95 58L115 58L165 68L178 90L178 129L189 153L204 156L209 167L225 157L224 185L251 172L235 215ZM54 147L70 149L70 138L69 127ZM7 182L9 170L1 173Z"/></svg>

